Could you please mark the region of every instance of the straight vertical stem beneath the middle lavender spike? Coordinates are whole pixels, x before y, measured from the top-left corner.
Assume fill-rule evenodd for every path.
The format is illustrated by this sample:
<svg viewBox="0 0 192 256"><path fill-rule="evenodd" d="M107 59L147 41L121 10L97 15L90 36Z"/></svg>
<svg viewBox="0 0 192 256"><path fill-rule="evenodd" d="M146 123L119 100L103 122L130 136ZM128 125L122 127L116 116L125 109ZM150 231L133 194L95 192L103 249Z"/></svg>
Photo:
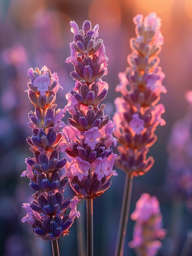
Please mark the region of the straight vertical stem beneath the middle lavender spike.
<svg viewBox="0 0 192 256"><path fill-rule="evenodd" d="M87 198L87 256L93 256L93 198Z"/></svg>

